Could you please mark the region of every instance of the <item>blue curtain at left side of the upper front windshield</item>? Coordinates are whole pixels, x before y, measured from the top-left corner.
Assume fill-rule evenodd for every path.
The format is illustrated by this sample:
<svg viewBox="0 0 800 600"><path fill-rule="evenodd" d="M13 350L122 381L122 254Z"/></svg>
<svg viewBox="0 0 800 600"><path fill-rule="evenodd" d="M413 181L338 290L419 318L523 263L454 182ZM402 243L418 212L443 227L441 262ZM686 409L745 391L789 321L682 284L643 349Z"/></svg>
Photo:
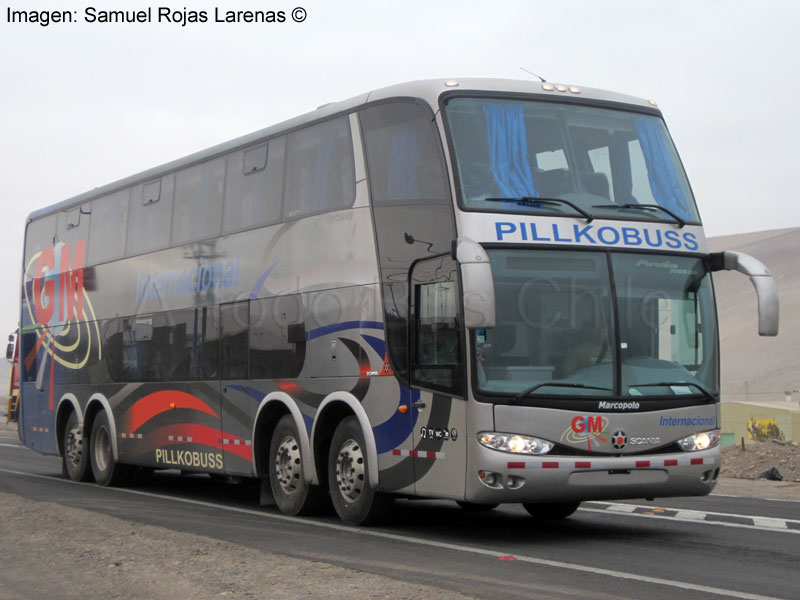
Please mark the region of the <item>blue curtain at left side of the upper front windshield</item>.
<svg viewBox="0 0 800 600"><path fill-rule="evenodd" d="M528 160L528 140L522 106L512 102L483 105L489 159L503 197L538 197Z"/></svg>

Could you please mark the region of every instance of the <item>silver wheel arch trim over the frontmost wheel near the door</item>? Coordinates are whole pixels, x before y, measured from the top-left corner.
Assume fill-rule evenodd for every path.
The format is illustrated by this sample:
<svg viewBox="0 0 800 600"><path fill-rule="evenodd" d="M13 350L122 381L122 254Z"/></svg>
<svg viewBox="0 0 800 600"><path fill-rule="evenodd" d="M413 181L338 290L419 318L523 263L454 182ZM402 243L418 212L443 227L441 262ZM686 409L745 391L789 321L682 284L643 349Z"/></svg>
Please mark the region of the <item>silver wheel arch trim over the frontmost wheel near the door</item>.
<svg viewBox="0 0 800 600"><path fill-rule="evenodd" d="M326 396L319 406L314 426L311 429L311 442L314 446L314 462L322 465L322 473L318 470L320 481L327 483L327 462L330 451L330 441L336 426L348 416L358 420L364 442L367 446L367 466L369 468L369 482L372 488L378 487L378 446L367 417L367 412L361 402L348 392L333 392Z"/></svg>

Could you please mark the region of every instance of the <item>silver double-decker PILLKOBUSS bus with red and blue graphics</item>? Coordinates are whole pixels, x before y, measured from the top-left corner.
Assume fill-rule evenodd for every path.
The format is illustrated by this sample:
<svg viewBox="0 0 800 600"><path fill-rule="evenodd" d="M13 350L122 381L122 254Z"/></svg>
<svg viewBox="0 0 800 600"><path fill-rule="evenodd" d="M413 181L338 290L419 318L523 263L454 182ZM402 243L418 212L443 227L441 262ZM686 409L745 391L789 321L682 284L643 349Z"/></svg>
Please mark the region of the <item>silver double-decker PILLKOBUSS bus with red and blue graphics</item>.
<svg viewBox="0 0 800 600"><path fill-rule="evenodd" d="M397 497L708 494L709 253L654 103L397 85L30 215L24 443L100 485L180 469L374 523Z"/></svg>

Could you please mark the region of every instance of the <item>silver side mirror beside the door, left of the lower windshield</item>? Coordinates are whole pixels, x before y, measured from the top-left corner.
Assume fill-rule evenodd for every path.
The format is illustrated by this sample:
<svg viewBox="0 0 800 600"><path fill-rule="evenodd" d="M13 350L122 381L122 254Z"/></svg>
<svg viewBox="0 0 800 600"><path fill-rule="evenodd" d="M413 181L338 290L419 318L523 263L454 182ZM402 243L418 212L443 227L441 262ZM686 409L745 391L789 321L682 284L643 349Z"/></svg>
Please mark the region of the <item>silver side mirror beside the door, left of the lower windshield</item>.
<svg viewBox="0 0 800 600"><path fill-rule="evenodd" d="M453 246L461 267L464 325L467 329L491 329L495 323L495 304L489 255L469 238L459 238Z"/></svg>

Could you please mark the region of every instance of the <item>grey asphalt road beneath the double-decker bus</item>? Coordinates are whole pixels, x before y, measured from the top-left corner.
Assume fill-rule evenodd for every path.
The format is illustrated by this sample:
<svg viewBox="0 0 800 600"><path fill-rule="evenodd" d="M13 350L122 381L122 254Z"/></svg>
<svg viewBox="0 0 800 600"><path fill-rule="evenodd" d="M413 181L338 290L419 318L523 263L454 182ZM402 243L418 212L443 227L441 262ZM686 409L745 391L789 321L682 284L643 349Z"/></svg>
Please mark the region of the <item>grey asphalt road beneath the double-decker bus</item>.
<svg viewBox="0 0 800 600"><path fill-rule="evenodd" d="M539 523L521 507L465 512L403 500L391 523L261 508L253 487L157 473L107 489L60 476L60 459L0 435L0 491L478 598L800 598L800 502L734 496L586 503Z"/></svg>

